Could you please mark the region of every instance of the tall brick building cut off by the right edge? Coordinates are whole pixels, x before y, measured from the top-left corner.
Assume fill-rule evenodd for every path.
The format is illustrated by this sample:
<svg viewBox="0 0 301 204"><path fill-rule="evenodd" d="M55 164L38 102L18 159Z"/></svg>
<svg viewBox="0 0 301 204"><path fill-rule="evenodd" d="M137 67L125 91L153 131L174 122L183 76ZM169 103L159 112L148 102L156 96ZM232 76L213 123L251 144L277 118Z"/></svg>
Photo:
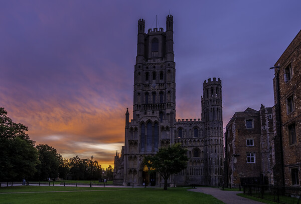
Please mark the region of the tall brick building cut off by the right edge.
<svg viewBox="0 0 301 204"><path fill-rule="evenodd" d="M301 31L275 63L275 182L300 184L301 167ZM278 151L279 150L279 151ZM279 152L277 154L277 152Z"/></svg>

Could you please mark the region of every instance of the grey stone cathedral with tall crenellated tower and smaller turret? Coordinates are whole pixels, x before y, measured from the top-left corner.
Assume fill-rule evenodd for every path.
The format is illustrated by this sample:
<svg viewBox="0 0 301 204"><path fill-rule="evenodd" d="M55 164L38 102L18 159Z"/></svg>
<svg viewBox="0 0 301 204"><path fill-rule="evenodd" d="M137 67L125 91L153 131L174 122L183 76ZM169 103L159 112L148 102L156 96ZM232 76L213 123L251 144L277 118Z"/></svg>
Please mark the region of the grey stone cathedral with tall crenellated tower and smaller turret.
<svg viewBox="0 0 301 204"><path fill-rule="evenodd" d="M188 149L188 167L170 177L171 185L211 185L223 182L222 85L220 79L203 83L202 120L176 120L176 64L173 16L163 28L148 29L138 21L134 66L133 113L125 113L124 146L114 159L115 184L159 186L164 180L149 174L145 155L181 143ZM189 87L188 87L189 88Z"/></svg>

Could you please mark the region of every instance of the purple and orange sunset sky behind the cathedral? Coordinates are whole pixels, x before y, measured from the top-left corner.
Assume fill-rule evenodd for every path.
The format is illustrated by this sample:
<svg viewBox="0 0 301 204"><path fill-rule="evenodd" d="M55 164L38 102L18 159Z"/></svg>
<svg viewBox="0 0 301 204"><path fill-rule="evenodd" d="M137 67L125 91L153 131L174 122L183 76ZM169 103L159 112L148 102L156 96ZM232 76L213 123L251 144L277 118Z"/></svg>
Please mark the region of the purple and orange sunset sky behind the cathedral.
<svg viewBox="0 0 301 204"><path fill-rule="evenodd" d="M301 29L301 1L0 1L0 107L36 144L112 164L132 117L137 22L174 16L177 119L201 117L220 78L223 120L273 106L269 70Z"/></svg>

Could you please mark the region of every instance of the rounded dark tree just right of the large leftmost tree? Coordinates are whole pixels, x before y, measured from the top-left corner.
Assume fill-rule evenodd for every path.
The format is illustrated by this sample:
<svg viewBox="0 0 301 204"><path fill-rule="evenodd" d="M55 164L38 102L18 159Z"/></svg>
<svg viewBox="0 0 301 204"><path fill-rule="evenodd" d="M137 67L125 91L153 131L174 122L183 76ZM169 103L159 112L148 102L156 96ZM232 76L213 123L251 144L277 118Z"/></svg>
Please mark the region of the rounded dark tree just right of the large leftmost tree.
<svg viewBox="0 0 301 204"><path fill-rule="evenodd" d="M57 150L47 144L39 144L36 146L39 152L40 164L37 166L37 177L39 180L46 178L56 178L59 174L59 167L62 155Z"/></svg>

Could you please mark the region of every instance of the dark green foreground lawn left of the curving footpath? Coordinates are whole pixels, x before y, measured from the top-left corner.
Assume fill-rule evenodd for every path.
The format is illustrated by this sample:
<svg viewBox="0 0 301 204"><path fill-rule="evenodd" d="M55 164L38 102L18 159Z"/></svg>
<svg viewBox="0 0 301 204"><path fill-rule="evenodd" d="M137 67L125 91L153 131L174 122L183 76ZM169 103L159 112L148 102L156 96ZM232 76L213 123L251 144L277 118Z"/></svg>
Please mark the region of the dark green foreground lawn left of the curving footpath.
<svg viewBox="0 0 301 204"><path fill-rule="evenodd" d="M0 194L0 200L1 203L223 203L211 195L187 189L16 186L2 187L0 193L8 191L32 193ZM62 190L86 191L54 192Z"/></svg>

